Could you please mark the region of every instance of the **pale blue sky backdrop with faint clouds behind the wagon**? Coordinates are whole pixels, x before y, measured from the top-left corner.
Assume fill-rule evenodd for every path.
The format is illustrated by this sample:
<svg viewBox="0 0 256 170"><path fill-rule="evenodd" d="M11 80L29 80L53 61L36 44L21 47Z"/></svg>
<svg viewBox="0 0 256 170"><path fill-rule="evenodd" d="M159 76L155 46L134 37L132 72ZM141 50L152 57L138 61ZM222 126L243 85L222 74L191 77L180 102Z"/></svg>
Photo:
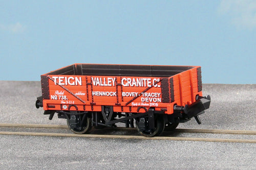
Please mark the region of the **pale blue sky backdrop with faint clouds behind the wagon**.
<svg viewBox="0 0 256 170"><path fill-rule="evenodd" d="M256 1L2 1L0 80L74 63L200 65L256 83Z"/></svg>

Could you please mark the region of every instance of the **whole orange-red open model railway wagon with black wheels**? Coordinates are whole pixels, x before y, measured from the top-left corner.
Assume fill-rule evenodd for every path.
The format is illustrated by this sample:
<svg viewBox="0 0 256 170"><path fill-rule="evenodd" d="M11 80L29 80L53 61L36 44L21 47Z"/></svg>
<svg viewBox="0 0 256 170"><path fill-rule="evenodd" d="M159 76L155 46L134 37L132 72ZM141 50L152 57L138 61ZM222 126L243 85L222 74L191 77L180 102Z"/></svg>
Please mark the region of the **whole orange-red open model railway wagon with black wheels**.
<svg viewBox="0 0 256 170"><path fill-rule="evenodd" d="M192 117L200 124L210 105L200 66L73 64L41 75L41 89L36 107L77 134L124 123L156 136Z"/></svg>

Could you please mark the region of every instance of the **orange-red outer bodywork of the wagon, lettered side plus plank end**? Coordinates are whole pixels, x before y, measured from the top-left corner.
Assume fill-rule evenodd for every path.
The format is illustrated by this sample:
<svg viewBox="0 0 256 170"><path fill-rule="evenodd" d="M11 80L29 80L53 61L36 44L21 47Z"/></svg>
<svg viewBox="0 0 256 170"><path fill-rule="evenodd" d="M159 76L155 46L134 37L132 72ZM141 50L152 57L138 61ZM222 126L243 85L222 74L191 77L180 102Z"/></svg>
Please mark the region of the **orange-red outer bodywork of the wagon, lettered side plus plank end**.
<svg viewBox="0 0 256 170"><path fill-rule="evenodd" d="M112 73L119 68L113 65ZM161 78L120 74L81 76L79 74L84 68L76 65L76 75L45 75L49 79L49 99L44 100L44 109L100 111L101 105L107 105L115 106L114 110L118 112L145 111L137 111L139 107L155 107L156 110L171 108L165 113L172 114L174 104L185 106L195 102L197 94L202 95L202 91L198 91L198 68Z"/></svg>

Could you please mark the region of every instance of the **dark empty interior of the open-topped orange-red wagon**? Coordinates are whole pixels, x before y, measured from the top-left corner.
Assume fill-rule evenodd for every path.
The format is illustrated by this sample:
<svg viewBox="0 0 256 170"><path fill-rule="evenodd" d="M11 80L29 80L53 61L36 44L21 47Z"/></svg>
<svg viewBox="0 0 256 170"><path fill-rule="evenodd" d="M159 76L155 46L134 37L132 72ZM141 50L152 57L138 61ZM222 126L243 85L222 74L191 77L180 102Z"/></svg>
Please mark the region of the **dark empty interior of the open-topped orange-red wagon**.
<svg viewBox="0 0 256 170"><path fill-rule="evenodd" d="M193 66L73 64L46 75L171 77Z"/></svg>

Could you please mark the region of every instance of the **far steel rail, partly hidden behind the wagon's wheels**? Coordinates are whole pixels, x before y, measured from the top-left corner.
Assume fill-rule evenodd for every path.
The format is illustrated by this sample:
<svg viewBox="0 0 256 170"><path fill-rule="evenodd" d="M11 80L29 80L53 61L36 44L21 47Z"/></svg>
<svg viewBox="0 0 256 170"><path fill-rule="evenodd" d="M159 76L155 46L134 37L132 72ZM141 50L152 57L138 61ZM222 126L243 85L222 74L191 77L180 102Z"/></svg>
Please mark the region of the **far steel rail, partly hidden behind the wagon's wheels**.
<svg viewBox="0 0 256 170"><path fill-rule="evenodd" d="M67 125L40 125L40 124L0 124L0 127L19 127L19 128L68 128ZM168 129L168 128L166 128ZM98 130L93 128L93 130ZM104 128L100 130L136 130L136 128ZM168 132L168 131L167 131ZM182 133L212 133L212 134L235 134L235 135L256 135L256 131L246 130L219 130L219 129L175 129L172 132Z"/></svg>

